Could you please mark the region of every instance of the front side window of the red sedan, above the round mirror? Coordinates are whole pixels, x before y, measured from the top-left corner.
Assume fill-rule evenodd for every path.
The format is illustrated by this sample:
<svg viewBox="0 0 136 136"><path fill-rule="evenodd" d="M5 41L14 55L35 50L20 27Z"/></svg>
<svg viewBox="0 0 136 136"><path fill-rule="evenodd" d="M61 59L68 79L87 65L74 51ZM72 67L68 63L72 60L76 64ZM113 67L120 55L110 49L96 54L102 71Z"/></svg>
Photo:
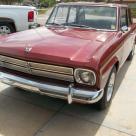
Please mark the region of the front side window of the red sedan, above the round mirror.
<svg viewBox="0 0 136 136"><path fill-rule="evenodd" d="M122 8L121 9L121 20L120 20L120 27L122 28L123 26L128 26L128 18L127 18L127 9Z"/></svg>

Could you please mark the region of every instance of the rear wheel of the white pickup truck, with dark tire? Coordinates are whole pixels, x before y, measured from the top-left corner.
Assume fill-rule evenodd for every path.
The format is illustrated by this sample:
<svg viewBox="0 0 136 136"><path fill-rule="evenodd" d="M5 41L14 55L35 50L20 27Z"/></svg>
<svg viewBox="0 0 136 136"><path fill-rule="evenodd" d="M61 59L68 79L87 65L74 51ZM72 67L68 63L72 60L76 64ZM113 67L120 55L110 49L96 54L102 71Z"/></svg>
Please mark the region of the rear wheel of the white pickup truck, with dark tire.
<svg viewBox="0 0 136 136"><path fill-rule="evenodd" d="M0 34L10 34L16 32L12 24L0 23Z"/></svg>

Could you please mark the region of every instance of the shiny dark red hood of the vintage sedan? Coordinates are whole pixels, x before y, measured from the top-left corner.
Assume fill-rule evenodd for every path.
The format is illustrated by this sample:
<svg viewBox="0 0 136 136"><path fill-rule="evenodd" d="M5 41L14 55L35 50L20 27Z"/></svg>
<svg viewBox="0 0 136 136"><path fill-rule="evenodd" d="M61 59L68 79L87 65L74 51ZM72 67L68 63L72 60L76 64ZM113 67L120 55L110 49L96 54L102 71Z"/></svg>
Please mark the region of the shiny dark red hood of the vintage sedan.
<svg viewBox="0 0 136 136"><path fill-rule="evenodd" d="M1 38L0 54L53 63L89 62L114 32L41 27ZM25 48L30 47L26 53Z"/></svg>

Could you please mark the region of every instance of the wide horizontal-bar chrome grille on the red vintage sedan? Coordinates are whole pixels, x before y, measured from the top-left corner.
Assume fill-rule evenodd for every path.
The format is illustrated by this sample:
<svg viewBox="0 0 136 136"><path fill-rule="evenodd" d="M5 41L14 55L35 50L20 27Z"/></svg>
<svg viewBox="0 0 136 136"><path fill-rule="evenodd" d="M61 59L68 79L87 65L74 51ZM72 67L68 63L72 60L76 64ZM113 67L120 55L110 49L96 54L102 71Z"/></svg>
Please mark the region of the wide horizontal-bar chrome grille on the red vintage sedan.
<svg viewBox="0 0 136 136"><path fill-rule="evenodd" d="M0 55L0 66L32 75L74 81L73 69L62 66L28 62Z"/></svg>

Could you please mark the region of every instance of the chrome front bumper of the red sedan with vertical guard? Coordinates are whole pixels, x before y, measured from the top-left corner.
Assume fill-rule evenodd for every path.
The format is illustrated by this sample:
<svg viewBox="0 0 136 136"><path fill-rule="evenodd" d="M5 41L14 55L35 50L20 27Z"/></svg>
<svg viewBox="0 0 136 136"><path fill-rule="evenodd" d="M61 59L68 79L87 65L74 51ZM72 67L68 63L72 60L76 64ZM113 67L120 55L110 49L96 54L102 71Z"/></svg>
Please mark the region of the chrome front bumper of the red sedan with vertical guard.
<svg viewBox="0 0 136 136"><path fill-rule="evenodd" d="M69 104L73 101L85 104L96 103L103 97L104 93L103 89L91 91L75 88L72 84L69 86L60 86L53 83L41 83L4 72L0 72L0 81L8 85L27 89L43 95L67 99Z"/></svg>

